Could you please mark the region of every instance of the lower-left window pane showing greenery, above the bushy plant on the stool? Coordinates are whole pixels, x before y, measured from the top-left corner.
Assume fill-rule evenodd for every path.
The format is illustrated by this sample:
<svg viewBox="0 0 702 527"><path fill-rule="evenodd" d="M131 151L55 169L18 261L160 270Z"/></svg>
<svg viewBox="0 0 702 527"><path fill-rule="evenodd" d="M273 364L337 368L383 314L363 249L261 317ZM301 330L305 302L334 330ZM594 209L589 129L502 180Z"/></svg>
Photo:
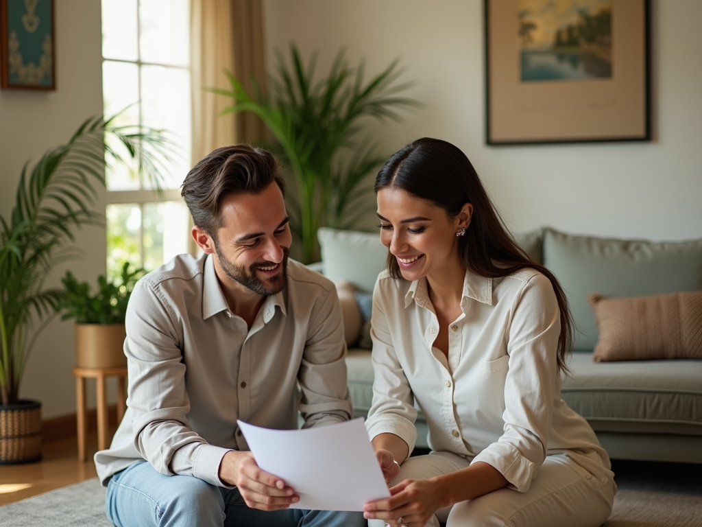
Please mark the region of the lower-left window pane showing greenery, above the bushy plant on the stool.
<svg viewBox="0 0 702 527"><path fill-rule="evenodd" d="M141 209L138 204L107 205L107 275L117 278L125 261L141 266L139 238Z"/></svg>

